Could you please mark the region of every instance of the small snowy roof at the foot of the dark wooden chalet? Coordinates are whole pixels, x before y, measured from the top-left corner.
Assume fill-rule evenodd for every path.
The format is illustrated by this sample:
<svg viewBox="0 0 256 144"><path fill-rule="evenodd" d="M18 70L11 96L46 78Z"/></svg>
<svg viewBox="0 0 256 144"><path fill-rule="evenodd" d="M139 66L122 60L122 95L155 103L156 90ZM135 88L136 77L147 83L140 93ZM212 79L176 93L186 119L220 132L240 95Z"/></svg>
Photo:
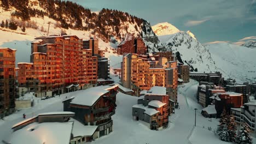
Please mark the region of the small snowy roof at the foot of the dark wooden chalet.
<svg viewBox="0 0 256 144"><path fill-rule="evenodd" d="M92 136L96 129L98 128L97 125L84 125L77 120L71 118L69 121L74 121L74 126L73 126L73 136Z"/></svg>

